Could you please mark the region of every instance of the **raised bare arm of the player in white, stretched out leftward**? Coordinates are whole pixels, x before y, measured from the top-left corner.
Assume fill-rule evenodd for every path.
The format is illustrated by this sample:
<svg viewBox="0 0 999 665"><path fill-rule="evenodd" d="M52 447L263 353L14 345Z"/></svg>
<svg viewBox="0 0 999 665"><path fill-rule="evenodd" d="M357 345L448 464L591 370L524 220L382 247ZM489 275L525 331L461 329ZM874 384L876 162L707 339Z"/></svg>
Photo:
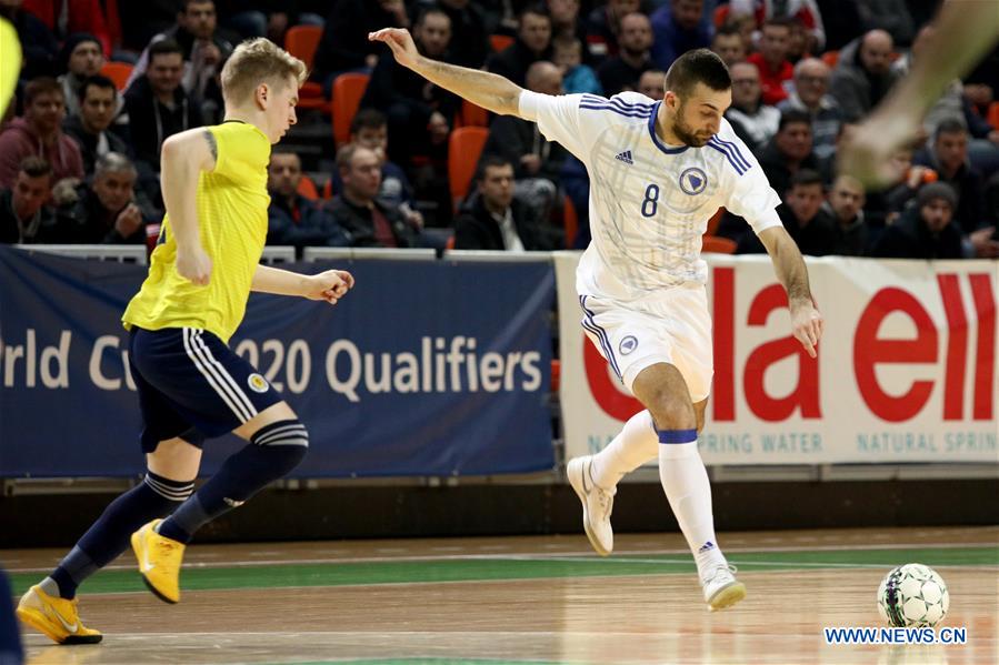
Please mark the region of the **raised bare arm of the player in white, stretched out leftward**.
<svg viewBox="0 0 999 665"><path fill-rule="evenodd" d="M431 83L493 113L520 115L520 93L523 91L520 85L490 72L424 58L417 51L409 30L384 28L368 34L368 39L388 44L399 64L411 69Z"/></svg>

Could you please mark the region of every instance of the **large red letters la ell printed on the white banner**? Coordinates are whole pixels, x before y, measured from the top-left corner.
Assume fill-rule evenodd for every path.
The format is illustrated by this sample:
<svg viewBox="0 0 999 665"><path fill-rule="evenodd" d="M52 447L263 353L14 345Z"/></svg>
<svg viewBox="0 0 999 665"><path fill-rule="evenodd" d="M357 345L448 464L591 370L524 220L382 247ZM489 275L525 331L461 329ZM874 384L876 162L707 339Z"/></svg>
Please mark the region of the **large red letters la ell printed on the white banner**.
<svg viewBox="0 0 999 665"><path fill-rule="evenodd" d="M885 288L871 296L857 320L853 332L855 390L859 391L871 414L887 422L903 422L918 415L930 399L933 381L913 381L901 395L885 392L878 382L876 366L886 363L928 364L938 362L938 336L946 336L943 365L945 421L959 421L965 416L965 373L969 353L969 321L960 294L959 280L968 280L977 321L976 347L971 355L973 372L971 387L971 420L989 421L993 414L996 376L996 295L988 274L939 274L937 286L947 316L947 329L938 331L926 308L910 292L900 288ZM721 422L736 420L736 271L716 268L713 279L713 347L715 385L711 397L712 419ZM767 323L775 311L787 308L783 288L779 284L763 286L749 305L745 325ZM909 316L916 328L916 337L907 340L879 337L883 320L892 312ZM788 356L798 357L798 383L783 396L767 393L763 375L771 365ZM841 362L832 359L832 362ZM611 377L607 361L590 343L583 341L583 365L587 383L597 404L609 416L626 421L641 411L638 400L623 392ZM788 335L765 342L746 356L742 371L742 390L746 405L755 416L767 422L780 422L795 412L805 419L822 417L819 394L819 364L808 356L797 340Z"/></svg>

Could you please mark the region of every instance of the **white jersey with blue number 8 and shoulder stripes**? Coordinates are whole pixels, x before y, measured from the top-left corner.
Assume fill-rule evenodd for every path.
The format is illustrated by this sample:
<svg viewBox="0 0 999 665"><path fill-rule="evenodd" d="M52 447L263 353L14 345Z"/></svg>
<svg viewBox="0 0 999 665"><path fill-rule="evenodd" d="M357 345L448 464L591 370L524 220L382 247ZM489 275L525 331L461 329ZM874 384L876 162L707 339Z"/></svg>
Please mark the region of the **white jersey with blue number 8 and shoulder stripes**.
<svg viewBox="0 0 999 665"><path fill-rule="evenodd" d="M728 121L703 148L668 147L656 135L661 103L638 92L521 94L521 115L590 174L593 240L577 271L580 294L635 300L706 283L701 235L722 205L757 233L781 224L780 198Z"/></svg>

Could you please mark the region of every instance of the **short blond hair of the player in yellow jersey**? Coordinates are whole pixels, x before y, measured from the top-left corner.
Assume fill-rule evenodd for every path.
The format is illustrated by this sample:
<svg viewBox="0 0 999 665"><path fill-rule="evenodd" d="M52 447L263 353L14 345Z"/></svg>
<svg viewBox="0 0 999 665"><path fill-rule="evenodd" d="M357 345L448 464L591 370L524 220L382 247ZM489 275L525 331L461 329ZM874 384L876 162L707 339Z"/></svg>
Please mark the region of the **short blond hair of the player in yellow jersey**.
<svg viewBox="0 0 999 665"><path fill-rule="evenodd" d="M306 63L263 37L242 42L222 68L222 97L229 103L249 101L261 83L283 87L292 77L306 82Z"/></svg>

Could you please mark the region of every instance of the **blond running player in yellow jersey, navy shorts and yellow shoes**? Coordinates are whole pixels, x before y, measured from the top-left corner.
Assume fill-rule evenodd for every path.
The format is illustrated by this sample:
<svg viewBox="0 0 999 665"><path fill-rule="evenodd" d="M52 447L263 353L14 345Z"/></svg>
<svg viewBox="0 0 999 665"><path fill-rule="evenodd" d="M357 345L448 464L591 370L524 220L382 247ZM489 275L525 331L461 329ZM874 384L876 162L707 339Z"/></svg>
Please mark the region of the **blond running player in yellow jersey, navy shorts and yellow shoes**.
<svg viewBox="0 0 999 665"><path fill-rule="evenodd" d="M194 532L289 473L308 449L308 431L291 407L228 346L251 291L336 303L353 285L344 271L302 275L259 263L270 148L296 122L306 68L256 39L237 47L221 78L222 124L163 143L167 215L149 275L122 316L142 412L146 477L114 500L18 605L23 623L60 644L100 642L101 634L80 622L77 586L129 541L150 591L179 602L181 560ZM247 445L193 492L204 440L227 432Z"/></svg>

